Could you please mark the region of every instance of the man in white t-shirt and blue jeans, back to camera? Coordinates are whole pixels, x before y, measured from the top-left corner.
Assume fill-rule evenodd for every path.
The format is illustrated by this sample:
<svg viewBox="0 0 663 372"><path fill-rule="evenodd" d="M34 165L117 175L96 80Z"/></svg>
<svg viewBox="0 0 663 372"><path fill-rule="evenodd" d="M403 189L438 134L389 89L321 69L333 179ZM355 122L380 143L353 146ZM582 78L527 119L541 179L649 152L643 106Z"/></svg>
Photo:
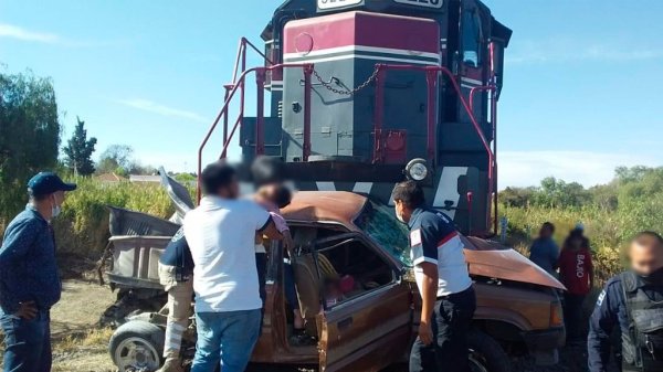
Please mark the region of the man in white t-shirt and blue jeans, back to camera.
<svg viewBox="0 0 663 372"><path fill-rule="evenodd" d="M254 242L260 232L282 238L270 213L238 199L232 167L215 162L201 173L204 198L185 217L193 258L198 343L191 372L242 372L261 325L262 301Z"/></svg>

